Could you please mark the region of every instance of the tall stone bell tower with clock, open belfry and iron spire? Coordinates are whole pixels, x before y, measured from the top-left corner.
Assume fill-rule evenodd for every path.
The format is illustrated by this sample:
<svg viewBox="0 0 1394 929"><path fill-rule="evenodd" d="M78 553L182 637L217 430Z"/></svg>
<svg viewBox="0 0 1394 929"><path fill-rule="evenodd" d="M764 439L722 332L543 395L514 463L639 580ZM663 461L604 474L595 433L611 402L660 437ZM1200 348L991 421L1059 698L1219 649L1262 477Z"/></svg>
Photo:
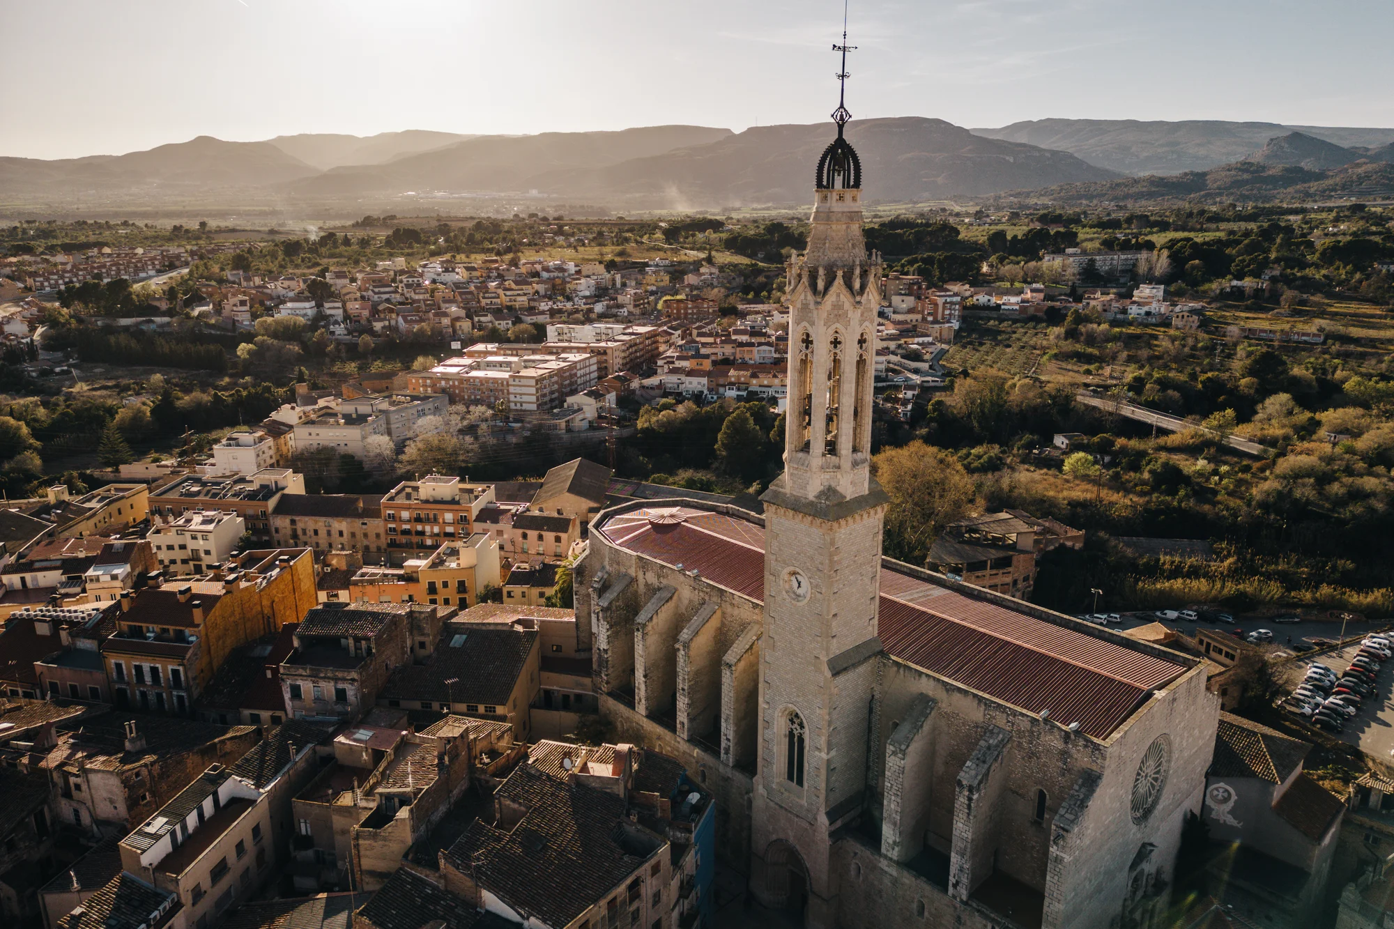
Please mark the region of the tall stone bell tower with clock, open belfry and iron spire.
<svg viewBox="0 0 1394 929"><path fill-rule="evenodd" d="M843 82L846 53L842 52ZM861 236L861 162L843 135L818 159L809 247L788 265L785 471L765 504L760 743L751 891L836 918L829 833L861 810L885 494L871 477L881 262Z"/></svg>

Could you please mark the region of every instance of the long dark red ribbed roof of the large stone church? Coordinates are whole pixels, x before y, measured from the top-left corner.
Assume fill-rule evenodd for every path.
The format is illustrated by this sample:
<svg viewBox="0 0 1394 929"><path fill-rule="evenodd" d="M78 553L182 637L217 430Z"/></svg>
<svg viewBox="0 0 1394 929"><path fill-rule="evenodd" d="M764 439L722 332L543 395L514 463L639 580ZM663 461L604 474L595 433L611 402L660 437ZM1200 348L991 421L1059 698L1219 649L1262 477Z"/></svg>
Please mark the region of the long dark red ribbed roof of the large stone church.
<svg viewBox="0 0 1394 929"><path fill-rule="evenodd" d="M764 600L764 529L686 506L645 506L597 529L615 545L698 571L701 577ZM949 587L881 571L878 633L885 651L1027 713L1050 710L1104 738L1186 665L979 600Z"/></svg>

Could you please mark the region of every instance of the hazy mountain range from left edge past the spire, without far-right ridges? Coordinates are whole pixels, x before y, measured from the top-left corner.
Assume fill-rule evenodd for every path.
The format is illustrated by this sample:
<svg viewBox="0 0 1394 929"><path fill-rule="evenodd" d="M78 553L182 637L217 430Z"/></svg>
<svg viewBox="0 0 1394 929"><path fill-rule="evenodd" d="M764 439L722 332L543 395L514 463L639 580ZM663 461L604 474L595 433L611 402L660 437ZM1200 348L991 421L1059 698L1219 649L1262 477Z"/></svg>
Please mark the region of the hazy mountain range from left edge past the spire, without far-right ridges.
<svg viewBox="0 0 1394 929"><path fill-rule="evenodd" d="M385 133L226 142L201 135L148 152L0 159L0 204L21 208L277 205L353 208L403 195L565 197L627 208L803 204L834 128L701 126L537 135ZM1115 177L1068 152L991 139L924 117L848 128L873 201L984 195Z"/></svg>

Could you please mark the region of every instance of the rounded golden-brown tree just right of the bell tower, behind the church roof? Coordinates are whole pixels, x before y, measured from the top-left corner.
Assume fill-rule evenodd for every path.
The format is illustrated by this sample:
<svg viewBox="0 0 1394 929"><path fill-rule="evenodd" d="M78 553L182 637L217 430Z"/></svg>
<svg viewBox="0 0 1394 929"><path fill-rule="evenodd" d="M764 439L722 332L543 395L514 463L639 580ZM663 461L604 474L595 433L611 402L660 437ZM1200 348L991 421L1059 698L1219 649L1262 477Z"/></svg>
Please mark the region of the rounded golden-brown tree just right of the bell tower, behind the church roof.
<svg viewBox="0 0 1394 929"><path fill-rule="evenodd" d="M919 439L881 452L871 459L871 469L891 498L887 554L923 565L934 537L972 506L973 480L956 458Z"/></svg>

